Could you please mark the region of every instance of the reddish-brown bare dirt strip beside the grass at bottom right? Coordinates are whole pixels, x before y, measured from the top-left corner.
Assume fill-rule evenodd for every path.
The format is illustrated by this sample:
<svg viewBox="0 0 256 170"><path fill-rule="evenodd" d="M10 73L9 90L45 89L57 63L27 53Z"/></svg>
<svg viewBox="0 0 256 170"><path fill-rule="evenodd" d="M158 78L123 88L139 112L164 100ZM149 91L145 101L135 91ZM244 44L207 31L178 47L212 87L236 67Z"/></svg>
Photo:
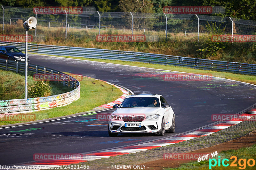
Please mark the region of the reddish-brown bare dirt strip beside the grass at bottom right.
<svg viewBox="0 0 256 170"><path fill-rule="evenodd" d="M199 153L205 152L207 154L207 153L215 152L215 151L220 152L220 151L226 151L226 150L230 150L230 149L239 149L242 147L250 147L255 143L256 143L256 130L241 137L241 138L230 140L228 142L224 142L222 144L214 145L214 146L211 146L208 148L198 149L193 152L199 152ZM193 153L193 152L189 152L189 153ZM144 165L146 165L146 167L149 167L147 169L162 170L164 167L174 168L174 167L180 166L180 164L188 163L188 162L190 162L190 160L159 159L159 160L146 162L146 163L144 163Z"/></svg>

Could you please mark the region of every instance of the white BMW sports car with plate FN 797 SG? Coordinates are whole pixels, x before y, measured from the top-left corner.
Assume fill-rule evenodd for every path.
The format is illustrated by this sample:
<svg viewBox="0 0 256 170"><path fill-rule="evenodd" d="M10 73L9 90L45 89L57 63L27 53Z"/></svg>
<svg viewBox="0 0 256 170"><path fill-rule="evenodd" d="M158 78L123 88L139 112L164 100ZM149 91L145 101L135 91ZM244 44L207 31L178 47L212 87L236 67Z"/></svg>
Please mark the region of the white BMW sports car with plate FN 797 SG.
<svg viewBox="0 0 256 170"><path fill-rule="evenodd" d="M127 96L108 119L108 135L118 133L155 133L175 131L175 115L162 95L137 94Z"/></svg>

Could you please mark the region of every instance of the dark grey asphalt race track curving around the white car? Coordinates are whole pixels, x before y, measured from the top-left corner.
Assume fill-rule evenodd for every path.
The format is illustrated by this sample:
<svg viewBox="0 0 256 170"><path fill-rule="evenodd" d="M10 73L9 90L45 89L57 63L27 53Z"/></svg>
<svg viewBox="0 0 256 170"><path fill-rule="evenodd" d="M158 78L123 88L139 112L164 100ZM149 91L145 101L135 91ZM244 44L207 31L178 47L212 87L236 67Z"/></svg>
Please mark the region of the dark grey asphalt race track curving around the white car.
<svg viewBox="0 0 256 170"><path fill-rule="evenodd" d="M166 133L164 137L211 124L212 114L235 114L256 103L256 87L237 81L219 78L207 81L166 81L163 75L177 73L32 54L29 58L30 63L62 72L91 75L124 86L135 94L162 94L176 116L175 133ZM0 165L31 162L35 153L95 152L159 139L159 136L148 134L109 137L107 121L96 120L96 116L0 129Z"/></svg>

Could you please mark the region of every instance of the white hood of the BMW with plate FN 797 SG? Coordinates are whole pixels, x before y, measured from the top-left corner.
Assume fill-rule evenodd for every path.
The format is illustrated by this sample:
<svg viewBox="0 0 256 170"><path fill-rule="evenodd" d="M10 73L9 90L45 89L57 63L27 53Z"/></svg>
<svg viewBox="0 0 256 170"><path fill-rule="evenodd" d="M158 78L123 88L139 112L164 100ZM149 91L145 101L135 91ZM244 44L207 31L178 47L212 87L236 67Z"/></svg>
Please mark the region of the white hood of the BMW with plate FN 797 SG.
<svg viewBox="0 0 256 170"><path fill-rule="evenodd" d="M113 114L118 116L149 116L156 114L159 110L161 110L160 107L158 108L117 108Z"/></svg>

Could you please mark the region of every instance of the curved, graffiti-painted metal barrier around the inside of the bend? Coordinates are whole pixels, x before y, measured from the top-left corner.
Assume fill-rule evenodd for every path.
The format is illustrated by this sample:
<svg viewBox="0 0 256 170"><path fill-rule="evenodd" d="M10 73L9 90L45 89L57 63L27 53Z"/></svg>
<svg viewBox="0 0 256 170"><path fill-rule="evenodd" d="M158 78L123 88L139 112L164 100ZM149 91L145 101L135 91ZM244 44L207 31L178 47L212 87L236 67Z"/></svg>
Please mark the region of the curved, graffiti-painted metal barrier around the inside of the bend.
<svg viewBox="0 0 256 170"><path fill-rule="evenodd" d="M16 71L16 73L20 73L25 72L25 63L0 59L0 68L5 69L6 71L12 70ZM79 99L80 83L70 75L50 68L36 66L30 63L28 64L28 71L36 74L52 74L55 75L55 79L57 79L57 76L59 76L61 83L64 86L68 86L73 90L67 93L48 97L0 100L0 116L14 113L27 113L39 110L46 110L53 107L65 106Z"/></svg>

